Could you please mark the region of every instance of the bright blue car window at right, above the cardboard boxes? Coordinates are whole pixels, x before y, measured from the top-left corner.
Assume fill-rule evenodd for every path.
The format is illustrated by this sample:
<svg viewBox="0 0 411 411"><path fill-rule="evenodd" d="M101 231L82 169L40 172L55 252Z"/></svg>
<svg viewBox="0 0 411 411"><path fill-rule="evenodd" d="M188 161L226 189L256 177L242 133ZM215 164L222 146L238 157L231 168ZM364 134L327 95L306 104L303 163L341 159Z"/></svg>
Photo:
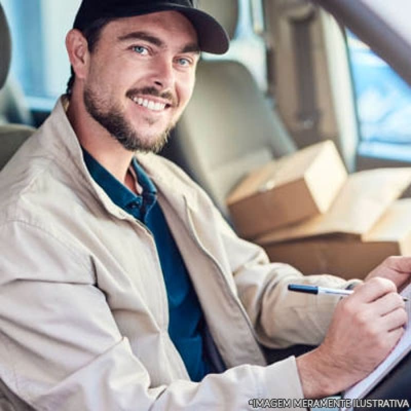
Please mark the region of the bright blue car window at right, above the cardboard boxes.
<svg viewBox="0 0 411 411"><path fill-rule="evenodd" d="M411 88L365 43L347 34L361 154L411 160Z"/></svg>

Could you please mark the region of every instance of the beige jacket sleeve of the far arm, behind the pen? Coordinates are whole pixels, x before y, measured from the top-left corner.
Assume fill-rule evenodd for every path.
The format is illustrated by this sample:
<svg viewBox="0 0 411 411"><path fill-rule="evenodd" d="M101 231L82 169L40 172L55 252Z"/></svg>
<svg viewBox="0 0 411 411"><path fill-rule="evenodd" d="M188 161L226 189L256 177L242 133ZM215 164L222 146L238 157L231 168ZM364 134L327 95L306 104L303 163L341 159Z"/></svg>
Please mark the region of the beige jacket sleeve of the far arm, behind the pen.
<svg viewBox="0 0 411 411"><path fill-rule="evenodd" d="M265 251L242 240L216 210L226 255L234 275L238 296L259 342L270 348L293 344L319 345L328 329L339 298L293 293L290 283L346 288L360 283L333 275L303 275L288 264L270 263Z"/></svg>

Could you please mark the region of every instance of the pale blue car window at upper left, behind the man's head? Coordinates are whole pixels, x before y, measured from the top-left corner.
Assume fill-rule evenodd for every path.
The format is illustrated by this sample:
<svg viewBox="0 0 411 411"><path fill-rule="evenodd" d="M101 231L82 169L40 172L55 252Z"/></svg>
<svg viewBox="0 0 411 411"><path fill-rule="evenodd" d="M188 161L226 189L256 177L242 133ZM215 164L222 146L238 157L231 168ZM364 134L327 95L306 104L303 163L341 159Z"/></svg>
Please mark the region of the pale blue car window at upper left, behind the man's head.
<svg viewBox="0 0 411 411"><path fill-rule="evenodd" d="M64 47L80 0L2 0L12 35L11 73L34 109L52 108L65 90L69 62Z"/></svg>

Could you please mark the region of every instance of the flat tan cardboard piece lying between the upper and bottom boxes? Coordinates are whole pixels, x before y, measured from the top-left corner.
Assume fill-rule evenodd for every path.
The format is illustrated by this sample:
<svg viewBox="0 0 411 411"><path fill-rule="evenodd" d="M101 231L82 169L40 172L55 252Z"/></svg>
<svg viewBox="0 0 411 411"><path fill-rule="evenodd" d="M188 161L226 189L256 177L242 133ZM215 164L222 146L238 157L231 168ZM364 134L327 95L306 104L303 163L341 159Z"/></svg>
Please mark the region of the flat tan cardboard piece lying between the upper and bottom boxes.
<svg viewBox="0 0 411 411"><path fill-rule="evenodd" d="M323 234L362 236L381 218L411 182L411 168L377 169L351 174L327 214L309 218L259 237L270 244Z"/></svg>

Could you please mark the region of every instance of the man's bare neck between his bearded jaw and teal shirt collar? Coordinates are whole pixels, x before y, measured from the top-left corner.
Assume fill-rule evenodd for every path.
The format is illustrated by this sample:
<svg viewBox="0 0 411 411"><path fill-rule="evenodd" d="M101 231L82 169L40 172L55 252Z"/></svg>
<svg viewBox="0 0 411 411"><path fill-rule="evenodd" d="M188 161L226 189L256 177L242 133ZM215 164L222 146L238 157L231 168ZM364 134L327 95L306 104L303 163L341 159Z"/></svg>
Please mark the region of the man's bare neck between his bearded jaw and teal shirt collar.
<svg viewBox="0 0 411 411"><path fill-rule="evenodd" d="M106 170L123 184L129 186L127 170L134 152L126 150L107 130L87 112L82 100L71 96L67 118L80 144Z"/></svg>

